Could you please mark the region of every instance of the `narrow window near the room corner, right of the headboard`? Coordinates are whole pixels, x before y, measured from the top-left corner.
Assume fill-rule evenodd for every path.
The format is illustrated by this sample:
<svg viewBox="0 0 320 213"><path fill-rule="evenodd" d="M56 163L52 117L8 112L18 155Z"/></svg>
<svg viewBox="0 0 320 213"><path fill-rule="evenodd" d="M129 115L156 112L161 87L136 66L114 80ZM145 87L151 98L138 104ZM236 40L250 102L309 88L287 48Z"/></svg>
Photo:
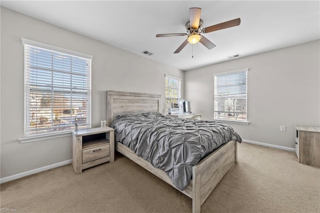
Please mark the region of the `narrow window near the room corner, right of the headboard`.
<svg viewBox="0 0 320 213"><path fill-rule="evenodd" d="M165 113L173 104L179 104L181 93L181 79L165 75Z"/></svg>

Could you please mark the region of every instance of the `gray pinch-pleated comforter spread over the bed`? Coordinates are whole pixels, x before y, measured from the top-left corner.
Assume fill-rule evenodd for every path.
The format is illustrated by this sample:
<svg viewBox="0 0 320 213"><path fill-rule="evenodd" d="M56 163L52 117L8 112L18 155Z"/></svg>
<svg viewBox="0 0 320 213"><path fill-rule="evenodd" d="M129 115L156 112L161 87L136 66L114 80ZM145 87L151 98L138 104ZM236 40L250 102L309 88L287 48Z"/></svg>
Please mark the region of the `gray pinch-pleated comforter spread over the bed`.
<svg viewBox="0 0 320 213"><path fill-rule="evenodd" d="M111 127L116 141L165 171L180 190L188 185L192 166L201 158L228 140L242 141L226 124L172 118L157 112L118 115Z"/></svg>

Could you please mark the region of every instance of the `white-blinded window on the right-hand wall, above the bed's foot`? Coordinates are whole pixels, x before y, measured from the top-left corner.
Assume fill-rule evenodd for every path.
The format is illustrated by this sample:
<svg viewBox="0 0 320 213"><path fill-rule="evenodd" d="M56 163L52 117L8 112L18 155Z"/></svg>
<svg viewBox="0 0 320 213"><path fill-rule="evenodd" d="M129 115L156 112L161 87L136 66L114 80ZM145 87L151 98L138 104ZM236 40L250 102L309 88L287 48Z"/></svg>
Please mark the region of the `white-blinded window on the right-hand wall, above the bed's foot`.
<svg viewBox="0 0 320 213"><path fill-rule="evenodd" d="M214 74L213 119L247 122L247 71Z"/></svg>

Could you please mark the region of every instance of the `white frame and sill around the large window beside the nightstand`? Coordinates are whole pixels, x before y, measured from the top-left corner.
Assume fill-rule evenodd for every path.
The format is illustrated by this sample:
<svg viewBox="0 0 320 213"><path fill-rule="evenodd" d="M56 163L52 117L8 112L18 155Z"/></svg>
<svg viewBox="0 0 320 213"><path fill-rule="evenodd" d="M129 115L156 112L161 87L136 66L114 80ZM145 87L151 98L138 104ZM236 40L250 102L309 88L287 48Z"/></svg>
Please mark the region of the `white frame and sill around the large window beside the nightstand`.
<svg viewBox="0 0 320 213"><path fill-rule="evenodd" d="M48 131L48 132L39 132L39 133L28 133L28 128L30 128L30 121L27 120L27 118L30 116L28 115L30 111L30 103L27 101L27 98L29 97L30 93L27 89L27 87L30 86L30 81L26 79L26 73L28 72L30 74L30 70L26 69L26 65L29 63L25 61L26 57L26 48L29 48L29 46L33 46L35 48L39 49L45 49L46 51L50 51L53 53L62 53L62 55L67 54L70 55L71 57L75 58L83 58L83 60L89 61L89 65L87 65L87 70L89 73L86 74L84 80L89 81L88 85L86 86L86 93L87 93L87 106L86 106L86 113L87 113L87 120L85 122L85 128L91 127L91 97L92 97L92 91L91 91L91 73L92 73L92 67L91 67L91 61L92 61L92 56L88 54L84 54L81 52L76 52L72 51L69 49L64 49L61 47L53 46L50 44L46 43L41 43L38 41L26 39L26 38L21 38L22 44L23 44L23 50L24 50L24 93L23 93L23 98L24 98L24 137L19 138L20 142L31 142L31 141L38 141L38 140L43 140L43 139L50 139L50 138L56 138L56 137L63 137L63 136L69 136L71 135L71 130L74 129L73 126L70 127L70 129L62 129L62 130L55 130L55 131ZM52 70L52 73L54 70ZM71 75L72 76L72 75ZM51 92L54 92L53 90ZM70 93L71 94L71 93ZM51 111L52 114L52 111ZM52 121L51 121L52 122ZM28 126L29 125L29 126Z"/></svg>

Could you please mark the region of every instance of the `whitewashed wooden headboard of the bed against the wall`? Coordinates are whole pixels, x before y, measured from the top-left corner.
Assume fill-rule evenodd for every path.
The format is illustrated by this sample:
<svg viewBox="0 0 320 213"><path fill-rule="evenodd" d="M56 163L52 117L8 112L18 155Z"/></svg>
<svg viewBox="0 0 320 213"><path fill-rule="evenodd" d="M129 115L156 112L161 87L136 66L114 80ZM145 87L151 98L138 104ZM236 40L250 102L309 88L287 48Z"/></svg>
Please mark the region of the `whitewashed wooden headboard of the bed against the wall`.
<svg viewBox="0 0 320 213"><path fill-rule="evenodd" d="M106 91L106 125L120 113L160 112L160 94Z"/></svg>

